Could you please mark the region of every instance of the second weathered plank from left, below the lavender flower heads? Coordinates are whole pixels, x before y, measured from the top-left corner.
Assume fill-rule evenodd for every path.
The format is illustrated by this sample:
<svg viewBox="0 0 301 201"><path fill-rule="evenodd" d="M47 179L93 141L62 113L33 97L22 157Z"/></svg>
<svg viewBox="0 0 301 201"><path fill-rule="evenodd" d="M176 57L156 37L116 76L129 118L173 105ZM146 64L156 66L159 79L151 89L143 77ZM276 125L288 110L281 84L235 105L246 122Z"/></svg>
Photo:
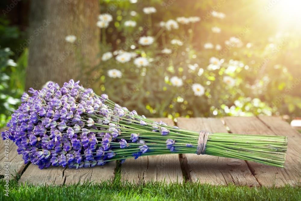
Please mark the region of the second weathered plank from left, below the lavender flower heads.
<svg viewBox="0 0 301 201"><path fill-rule="evenodd" d="M22 174L19 183L33 183L34 185L63 185L65 177L63 167L50 166L40 170L38 165L29 164Z"/></svg>

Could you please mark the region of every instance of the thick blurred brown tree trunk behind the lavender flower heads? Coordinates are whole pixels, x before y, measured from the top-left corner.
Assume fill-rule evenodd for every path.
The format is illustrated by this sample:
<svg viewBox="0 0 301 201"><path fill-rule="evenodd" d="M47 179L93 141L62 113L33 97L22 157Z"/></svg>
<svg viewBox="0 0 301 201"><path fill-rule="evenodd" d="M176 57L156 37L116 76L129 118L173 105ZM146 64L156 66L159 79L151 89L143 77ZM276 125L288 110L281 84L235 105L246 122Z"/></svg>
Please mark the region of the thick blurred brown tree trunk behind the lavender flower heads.
<svg viewBox="0 0 301 201"><path fill-rule="evenodd" d="M98 0L31 1L26 90L42 88L47 81L84 83L99 63L98 14ZM68 35L76 40L67 42Z"/></svg>

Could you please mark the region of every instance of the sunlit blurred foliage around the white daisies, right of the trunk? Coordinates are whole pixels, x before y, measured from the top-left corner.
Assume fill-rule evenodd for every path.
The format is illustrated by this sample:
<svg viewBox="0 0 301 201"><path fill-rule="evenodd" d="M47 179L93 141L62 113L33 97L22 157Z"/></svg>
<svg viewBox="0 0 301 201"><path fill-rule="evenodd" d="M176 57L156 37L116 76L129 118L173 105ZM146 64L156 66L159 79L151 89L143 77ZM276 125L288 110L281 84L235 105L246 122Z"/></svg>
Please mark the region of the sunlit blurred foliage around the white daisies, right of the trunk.
<svg viewBox="0 0 301 201"><path fill-rule="evenodd" d="M86 87L98 94L107 93L113 101L147 116L300 116L300 37L289 29L278 30L272 22L273 13L258 9L264 5L246 0L103 0L101 13L111 14L113 21L101 29L101 55L122 49L147 58L150 65L137 68L134 58L126 63L114 58L102 61ZM147 6L157 12L145 14L143 8ZM212 11L226 17L213 17ZM201 21L179 23L179 29L160 27L161 21L182 16L198 16ZM136 21L137 26L126 27L128 20ZM212 27L219 27L221 33L214 33ZM153 36L155 41L141 46L140 36ZM231 37L240 42L232 45ZM183 45L170 44L172 39L182 40ZM212 43L213 48L205 48L206 43ZM217 44L220 50L215 48ZM164 48L172 49L172 53L161 53ZM219 58L219 69L209 67L211 57ZM192 70L189 65L196 67ZM109 69L120 70L122 78L108 76ZM182 79L183 85L173 86L173 76ZM225 78L232 78L235 84L228 85ZM194 95L194 83L204 86L203 96Z"/></svg>

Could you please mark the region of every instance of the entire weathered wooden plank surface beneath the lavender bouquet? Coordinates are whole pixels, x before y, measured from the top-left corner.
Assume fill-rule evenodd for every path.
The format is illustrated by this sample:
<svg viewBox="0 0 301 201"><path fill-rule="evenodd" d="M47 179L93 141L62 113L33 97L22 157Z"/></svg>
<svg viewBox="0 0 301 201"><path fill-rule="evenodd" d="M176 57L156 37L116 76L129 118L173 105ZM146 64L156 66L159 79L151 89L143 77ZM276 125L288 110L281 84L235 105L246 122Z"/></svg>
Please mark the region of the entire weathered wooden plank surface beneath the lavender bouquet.
<svg viewBox="0 0 301 201"><path fill-rule="evenodd" d="M154 119L159 120L159 119ZM300 186L301 181L301 134L278 117L224 117L218 118L178 118L177 122L161 118L168 125L183 129L209 132L231 132L240 134L281 135L288 137L285 168L277 168L255 162L222 158L209 155L173 154L144 156L127 159L121 166L121 180L135 184L150 181L166 183L196 182L213 185L236 185L281 187L285 184ZM116 162L94 168L69 169L50 167L40 170L33 164L23 164L17 147L9 145L9 174L22 173L19 183L46 185L69 185L85 181L112 182ZM0 175L5 175L4 141L0 141ZM24 171L25 170L25 171ZM10 175L9 179L13 177Z"/></svg>

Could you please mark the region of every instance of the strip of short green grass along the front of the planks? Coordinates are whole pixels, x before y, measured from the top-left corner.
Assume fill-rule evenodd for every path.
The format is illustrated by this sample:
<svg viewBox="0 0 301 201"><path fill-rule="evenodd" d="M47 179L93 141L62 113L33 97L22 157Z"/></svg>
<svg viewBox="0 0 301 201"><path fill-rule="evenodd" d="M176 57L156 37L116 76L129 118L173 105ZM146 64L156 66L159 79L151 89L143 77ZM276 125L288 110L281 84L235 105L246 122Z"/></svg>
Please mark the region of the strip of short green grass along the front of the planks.
<svg viewBox="0 0 301 201"><path fill-rule="evenodd" d="M213 186L200 183L120 183L116 174L113 183L84 183L71 186L33 186L9 182L9 197L4 195L4 180L0 180L0 200L301 200L301 188L248 186Z"/></svg>

